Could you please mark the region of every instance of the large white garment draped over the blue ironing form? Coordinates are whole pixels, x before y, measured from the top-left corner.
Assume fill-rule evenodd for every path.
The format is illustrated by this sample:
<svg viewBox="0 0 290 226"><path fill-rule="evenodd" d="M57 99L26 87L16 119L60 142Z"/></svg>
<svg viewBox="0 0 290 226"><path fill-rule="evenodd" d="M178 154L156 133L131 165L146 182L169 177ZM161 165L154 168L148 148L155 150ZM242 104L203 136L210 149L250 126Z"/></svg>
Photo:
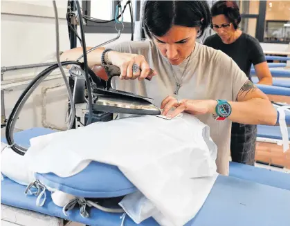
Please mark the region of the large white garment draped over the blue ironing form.
<svg viewBox="0 0 290 226"><path fill-rule="evenodd" d="M91 160L116 165L177 226L197 214L216 179L209 127L186 113L173 120L146 115L99 122L47 138L30 140L30 170L69 177Z"/></svg>

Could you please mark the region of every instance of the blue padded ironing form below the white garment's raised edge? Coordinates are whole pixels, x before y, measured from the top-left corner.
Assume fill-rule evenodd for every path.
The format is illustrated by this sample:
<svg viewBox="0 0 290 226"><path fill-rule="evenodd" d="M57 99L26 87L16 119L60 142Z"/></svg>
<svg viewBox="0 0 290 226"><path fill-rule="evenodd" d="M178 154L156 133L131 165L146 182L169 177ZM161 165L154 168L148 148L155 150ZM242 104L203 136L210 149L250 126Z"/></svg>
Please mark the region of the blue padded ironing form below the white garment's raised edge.
<svg viewBox="0 0 290 226"><path fill-rule="evenodd" d="M69 178L60 178L54 173L36 173L35 177L43 185L87 198L111 198L136 191L118 167L94 161Z"/></svg>

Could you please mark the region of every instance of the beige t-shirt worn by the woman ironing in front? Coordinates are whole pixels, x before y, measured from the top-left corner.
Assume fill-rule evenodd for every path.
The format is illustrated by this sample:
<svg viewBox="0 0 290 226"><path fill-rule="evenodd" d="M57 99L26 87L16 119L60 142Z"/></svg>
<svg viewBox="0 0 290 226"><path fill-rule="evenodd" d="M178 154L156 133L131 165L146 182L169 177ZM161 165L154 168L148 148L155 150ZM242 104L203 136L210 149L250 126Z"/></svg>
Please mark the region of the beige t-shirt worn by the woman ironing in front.
<svg viewBox="0 0 290 226"><path fill-rule="evenodd" d="M150 68L157 73L151 81L120 80L114 77L112 86L122 91L152 97L153 104L160 107L167 95L174 96L176 81L172 70L181 78L188 59L178 66L171 66L163 57L153 41L126 41L110 44L112 48L122 53L143 55ZM248 80L239 66L220 50L196 43L188 68L183 77L182 86L176 96L179 100L228 100L235 101L237 93ZM230 158L230 129L231 121L216 121L211 114L196 115L201 122L210 126L210 136L217 144L217 172L228 175ZM194 128L192 128L194 129ZM182 133L182 131L178 131Z"/></svg>

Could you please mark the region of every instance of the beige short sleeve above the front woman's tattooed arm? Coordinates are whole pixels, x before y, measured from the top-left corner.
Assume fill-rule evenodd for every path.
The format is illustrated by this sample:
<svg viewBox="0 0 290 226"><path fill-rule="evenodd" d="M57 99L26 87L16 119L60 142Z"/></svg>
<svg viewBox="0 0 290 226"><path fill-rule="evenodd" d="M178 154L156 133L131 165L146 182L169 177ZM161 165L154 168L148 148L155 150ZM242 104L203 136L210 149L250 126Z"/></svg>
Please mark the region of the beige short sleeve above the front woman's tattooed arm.
<svg viewBox="0 0 290 226"><path fill-rule="evenodd" d="M228 77L228 82L232 82L232 100L237 100L237 94L241 90L242 86L248 81L248 77L244 71L242 71L239 66L233 61L232 58L228 57L225 53L220 50L217 56L219 61L219 73ZM221 63L222 62L222 63ZM221 66L222 64L222 66Z"/></svg>

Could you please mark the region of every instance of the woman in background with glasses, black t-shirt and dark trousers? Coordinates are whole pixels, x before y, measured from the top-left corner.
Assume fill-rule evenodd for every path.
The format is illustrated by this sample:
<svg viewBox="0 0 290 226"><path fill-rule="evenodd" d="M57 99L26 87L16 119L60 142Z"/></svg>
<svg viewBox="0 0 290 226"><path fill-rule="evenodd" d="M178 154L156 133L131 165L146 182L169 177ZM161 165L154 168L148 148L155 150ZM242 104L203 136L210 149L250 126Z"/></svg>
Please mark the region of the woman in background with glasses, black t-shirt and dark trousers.
<svg viewBox="0 0 290 226"><path fill-rule="evenodd" d="M204 41L204 45L221 50L231 57L251 80L251 65L259 84L272 84L272 76L259 41L238 29L241 22L239 7L235 1L217 1L211 8L211 28L216 32ZM255 163L257 126L233 122L230 151L233 162Z"/></svg>

